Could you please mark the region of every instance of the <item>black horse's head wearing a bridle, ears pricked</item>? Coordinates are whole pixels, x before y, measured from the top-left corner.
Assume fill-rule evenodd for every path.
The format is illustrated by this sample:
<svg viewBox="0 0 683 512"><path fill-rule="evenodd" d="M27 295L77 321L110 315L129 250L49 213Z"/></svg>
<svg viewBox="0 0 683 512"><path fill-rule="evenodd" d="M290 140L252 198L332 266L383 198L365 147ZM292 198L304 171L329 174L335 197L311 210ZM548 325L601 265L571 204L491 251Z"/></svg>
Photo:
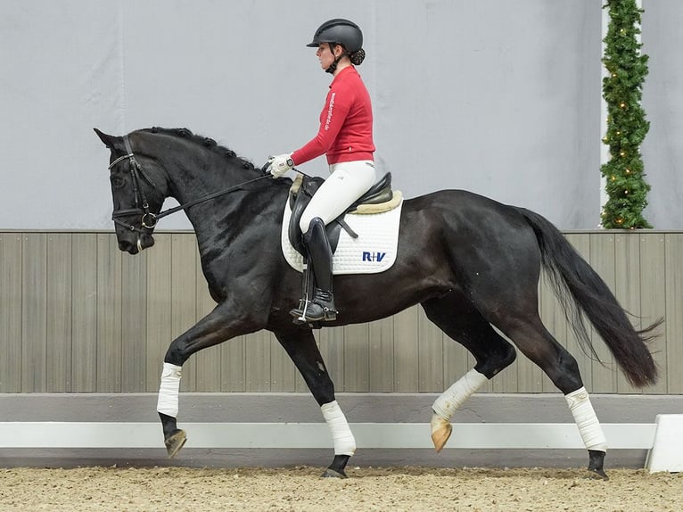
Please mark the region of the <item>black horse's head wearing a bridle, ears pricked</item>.
<svg viewBox="0 0 683 512"><path fill-rule="evenodd" d="M153 169L156 164L144 153L133 153L131 138L135 132L111 136L95 128L95 133L111 150L109 169L114 201L111 219L119 249L136 254L154 244L152 232L165 197L152 178L159 176Z"/></svg>

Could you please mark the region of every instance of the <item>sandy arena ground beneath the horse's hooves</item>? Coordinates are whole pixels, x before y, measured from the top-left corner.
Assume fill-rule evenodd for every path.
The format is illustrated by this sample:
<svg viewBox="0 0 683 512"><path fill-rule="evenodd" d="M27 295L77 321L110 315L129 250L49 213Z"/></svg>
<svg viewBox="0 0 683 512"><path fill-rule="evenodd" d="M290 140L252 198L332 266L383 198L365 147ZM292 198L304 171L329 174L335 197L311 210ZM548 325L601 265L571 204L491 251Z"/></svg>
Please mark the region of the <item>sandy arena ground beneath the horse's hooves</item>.
<svg viewBox="0 0 683 512"><path fill-rule="evenodd" d="M0 469L0 510L679 511L683 474L613 469L349 467Z"/></svg>

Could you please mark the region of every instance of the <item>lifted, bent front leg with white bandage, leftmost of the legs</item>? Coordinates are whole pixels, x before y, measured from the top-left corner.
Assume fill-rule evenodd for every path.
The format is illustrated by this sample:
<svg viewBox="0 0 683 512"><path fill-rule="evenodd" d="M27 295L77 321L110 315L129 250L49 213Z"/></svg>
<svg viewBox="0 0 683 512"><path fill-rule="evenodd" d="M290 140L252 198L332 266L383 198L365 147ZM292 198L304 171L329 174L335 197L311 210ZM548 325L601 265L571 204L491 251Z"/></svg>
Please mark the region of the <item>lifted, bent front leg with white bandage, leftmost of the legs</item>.
<svg viewBox="0 0 683 512"><path fill-rule="evenodd" d="M181 368L196 351L223 343L239 334L256 330L256 322L250 318L236 318L226 303L219 304L206 317L178 336L169 346L164 357L159 386L157 412L161 419L164 444L169 457L175 457L186 441L185 431L177 427L178 392Z"/></svg>

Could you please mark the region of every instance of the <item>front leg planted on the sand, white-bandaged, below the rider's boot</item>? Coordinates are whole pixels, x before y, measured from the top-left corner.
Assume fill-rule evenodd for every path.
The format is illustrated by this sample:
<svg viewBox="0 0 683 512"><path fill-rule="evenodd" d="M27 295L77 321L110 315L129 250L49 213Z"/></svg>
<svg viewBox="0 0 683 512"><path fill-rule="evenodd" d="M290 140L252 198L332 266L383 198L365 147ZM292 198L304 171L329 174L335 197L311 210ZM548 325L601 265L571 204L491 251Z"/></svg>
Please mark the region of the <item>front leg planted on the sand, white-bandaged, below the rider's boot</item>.
<svg viewBox="0 0 683 512"><path fill-rule="evenodd" d="M309 386L332 432L334 458L322 476L346 478L344 469L356 451L356 440L342 409L334 399L334 384L317 348L316 338L311 330L300 328L275 334Z"/></svg>

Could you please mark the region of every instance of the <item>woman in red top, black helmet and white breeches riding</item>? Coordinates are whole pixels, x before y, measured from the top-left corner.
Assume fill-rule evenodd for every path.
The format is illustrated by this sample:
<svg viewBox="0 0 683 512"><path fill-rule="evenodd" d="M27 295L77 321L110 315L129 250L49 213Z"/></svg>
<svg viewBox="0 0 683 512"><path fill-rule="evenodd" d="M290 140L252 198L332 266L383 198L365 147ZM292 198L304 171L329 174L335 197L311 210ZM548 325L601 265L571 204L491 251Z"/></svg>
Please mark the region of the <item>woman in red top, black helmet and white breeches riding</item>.
<svg viewBox="0 0 683 512"><path fill-rule="evenodd" d="M270 172L280 178L306 161L325 153L330 176L317 190L300 220L309 265L316 278L313 299L305 308L309 322L334 320L337 310L332 293L332 250L325 225L373 186L373 111L370 95L354 65L365 59L363 33L349 20L325 21L307 46L317 48L321 67L332 73L320 128L308 144L293 153L272 157ZM304 310L291 311L300 318Z"/></svg>

